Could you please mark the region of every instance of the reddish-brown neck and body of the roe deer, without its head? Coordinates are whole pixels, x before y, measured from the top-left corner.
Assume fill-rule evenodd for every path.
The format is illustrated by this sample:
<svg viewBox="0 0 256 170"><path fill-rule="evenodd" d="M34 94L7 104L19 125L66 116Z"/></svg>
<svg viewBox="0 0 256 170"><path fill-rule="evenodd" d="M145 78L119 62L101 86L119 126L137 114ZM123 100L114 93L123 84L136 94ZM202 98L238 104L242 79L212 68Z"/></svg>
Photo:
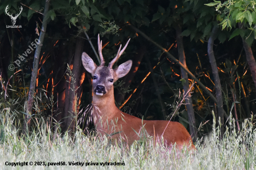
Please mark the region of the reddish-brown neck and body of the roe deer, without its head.
<svg viewBox="0 0 256 170"><path fill-rule="evenodd" d="M97 109L94 109L93 112L94 124L101 135L110 135L120 132L111 137L115 139L121 135L124 141L127 142L128 145L131 145L135 140L140 139L135 131L140 134L142 120L121 112L116 107L113 89L114 88L112 88L106 96L97 96L94 94L93 104L98 107ZM187 146L191 144L192 149L195 149L195 145L192 144L189 132L179 122L143 120L143 124L145 125L144 128L147 133L150 136L155 135L155 138L158 137L158 139L161 139L160 137L162 137L162 133L165 130L163 138L167 145L176 143L178 148L181 149L184 144Z"/></svg>

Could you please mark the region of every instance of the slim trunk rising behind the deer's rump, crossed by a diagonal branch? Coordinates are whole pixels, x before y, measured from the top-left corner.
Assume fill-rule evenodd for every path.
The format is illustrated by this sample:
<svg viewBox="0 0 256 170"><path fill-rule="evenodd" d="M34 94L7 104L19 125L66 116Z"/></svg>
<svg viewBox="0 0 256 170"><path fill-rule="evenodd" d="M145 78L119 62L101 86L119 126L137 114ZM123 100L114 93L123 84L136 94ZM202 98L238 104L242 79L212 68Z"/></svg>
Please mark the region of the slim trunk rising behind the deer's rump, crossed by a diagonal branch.
<svg viewBox="0 0 256 170"><path fill-rule="evenodd" d="M178 52L179 52L179 59L180 59L180 62L187 68L186 56L184 53L184 46L183 46L183 39L181 36L182 29L179 25L177 25L175 27L175 29L176 29L176 36L177 36L176 40L177 40L177 47L178 47ZM188 73L185 72L181 68L181 75L182 75L182 78L184 78L186 80L185 84L183 85L184 94L186 94L188 92L188 95L185 98L185 103L186 103L186 108L187 108L187 112L188 112L188 116L189 116L190 135L191 135L193 141L195 142L195 140L197 139L197 129L195 126L195 113L194 113L194 109L193 109L191 93L189 92Z"/></svg>

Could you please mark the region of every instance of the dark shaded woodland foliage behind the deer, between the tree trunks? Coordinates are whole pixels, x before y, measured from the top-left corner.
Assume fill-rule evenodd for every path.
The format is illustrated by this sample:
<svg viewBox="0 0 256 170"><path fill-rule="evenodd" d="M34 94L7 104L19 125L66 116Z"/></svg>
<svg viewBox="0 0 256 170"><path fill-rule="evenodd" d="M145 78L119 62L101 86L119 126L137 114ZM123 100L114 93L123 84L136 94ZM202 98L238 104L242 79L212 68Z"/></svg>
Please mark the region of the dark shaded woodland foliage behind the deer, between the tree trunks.
<svg viewBox="0 0 256 170"><path fill-rule="evenodd" d="M0 1L0 102L4 106L2 108L10 109L19 124L25 122L26 126L26 123L31 123L29 131L37 127L40 118L50 124L50 128L65 131L70 126L67 119L79 119L78 113L83 113L91 103L91 77L81 66L81 61L76 64L76 59L81 60L81 52L85 51L98 63L91 46L97 49L98 33L104 44L102 52L106 63L114 58L119 45L131 38L117 65L133 59L135 72L115 83L116 105L140 118L172 118L172 121L179 121L188 128L188 111L186 105L180 103L184 102L183 85L186 81L192 85L195 80L182 78L180 66L152 43L156 42L179 59L177 26L184 36L184 54L189 71L214 96L215 79L207 46L213 27L218 28L213 48L226 111L224 122L229 114L233 114L238 125L242 126L244 118L255 114L253 78L256 75L251 73L247 51L241 37L237 36L245 38L254 52L256 17L253 16L256 13L252 1L51 0L43 19L45 3L45 0ZM20 12L20 7L22 11L15 24L22 27L7 27L13 25L7 13L13 13L14 17ZM40 39L43 20L47 21L47 29L39 55L33 109L28 112L27 95L34 51L29 53L27 49L37 42L35 39ZM241 22L245 29L238 28L237 22ZM15 69L8 67L11 64ZM191 92L190 102L195 114L193 126L196 129L200 127L198 136L202 137L211 131L211 111L218 115L217 106L208 91L198 83ZM223 122L221 124L224 127ZM84 129L84 124L81 127Z"/></svg>

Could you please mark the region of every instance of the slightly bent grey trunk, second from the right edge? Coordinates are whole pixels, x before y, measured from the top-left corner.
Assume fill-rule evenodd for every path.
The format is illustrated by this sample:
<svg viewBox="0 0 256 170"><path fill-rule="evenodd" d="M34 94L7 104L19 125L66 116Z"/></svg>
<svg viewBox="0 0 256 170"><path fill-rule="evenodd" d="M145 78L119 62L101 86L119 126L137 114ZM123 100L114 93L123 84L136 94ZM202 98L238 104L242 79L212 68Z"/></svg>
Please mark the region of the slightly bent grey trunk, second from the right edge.
<svg viewBox="0 0 256 170"><path fill-rule="evenodd" d="M224 120L223 120L223 115L226 115L226 112L223 109L223 99L222 99L222 86L221 86L221 81L220 81L220 77L219 77L219 70L217 68L217 64L216 64L216 59L214 56L214 52L213 52L213 43L214 40L216 39L216 34L218 31L218 27L214 26L212 29L212 33L210 35L210 38L208 40L208 55L209 55L209 60L210 60L210 64L212 67L212 73L213 73L213 77L214 77L214 83L215 83L215 89L216 89L216 99L217 99L217 111L218 111L218 117L221 119L221 138L223 136L223 128L224 128ZM219 119L217 119L216 121L218 122Z"/></svg>

